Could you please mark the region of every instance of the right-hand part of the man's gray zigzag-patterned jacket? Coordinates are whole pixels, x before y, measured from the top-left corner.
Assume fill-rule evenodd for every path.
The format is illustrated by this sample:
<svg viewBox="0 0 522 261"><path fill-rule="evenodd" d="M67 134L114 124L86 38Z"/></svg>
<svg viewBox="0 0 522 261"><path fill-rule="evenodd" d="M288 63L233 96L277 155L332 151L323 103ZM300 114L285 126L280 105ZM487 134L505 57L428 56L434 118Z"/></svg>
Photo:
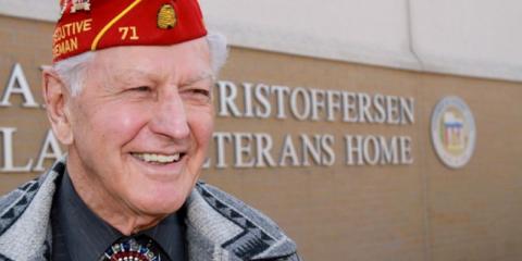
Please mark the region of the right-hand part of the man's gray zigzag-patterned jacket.
<svg viewBox="0 0 522 261"><path fill-rule="evenodd" d="M187 236L201 241L212 259L265 260L296 253L296 245L259 211L204 183L196 184L187 200ZM199 259L198 259L199 260Z"/></svg>

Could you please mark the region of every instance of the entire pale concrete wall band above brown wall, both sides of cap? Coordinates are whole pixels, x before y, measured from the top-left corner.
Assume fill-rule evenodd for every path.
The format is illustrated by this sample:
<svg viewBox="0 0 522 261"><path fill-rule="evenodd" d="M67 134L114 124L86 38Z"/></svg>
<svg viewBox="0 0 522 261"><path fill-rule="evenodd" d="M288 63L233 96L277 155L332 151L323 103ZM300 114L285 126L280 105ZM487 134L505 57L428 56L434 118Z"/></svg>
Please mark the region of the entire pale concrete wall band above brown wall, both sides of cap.
<svg viewBox="0 0 522 261"><path fill-rule="evenodd" d="M522 80L517 0L201 0L236 47L422 72ZM55 21L58 0L0 0L0 14Z"/></svg>

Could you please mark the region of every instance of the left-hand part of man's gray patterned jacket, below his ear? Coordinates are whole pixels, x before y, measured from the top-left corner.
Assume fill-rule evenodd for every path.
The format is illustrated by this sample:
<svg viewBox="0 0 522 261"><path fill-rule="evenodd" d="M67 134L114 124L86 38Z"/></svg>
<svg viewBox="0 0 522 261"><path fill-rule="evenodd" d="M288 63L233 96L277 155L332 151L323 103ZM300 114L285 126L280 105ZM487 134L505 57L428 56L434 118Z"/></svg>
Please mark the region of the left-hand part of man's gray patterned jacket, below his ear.
<svg viewBox="0 0 522 261"><path fill-rule="evenodd" d="M50 259L54 181L64 171L63 158L48 173L0 199L0 257L4 260Z"/></svg>

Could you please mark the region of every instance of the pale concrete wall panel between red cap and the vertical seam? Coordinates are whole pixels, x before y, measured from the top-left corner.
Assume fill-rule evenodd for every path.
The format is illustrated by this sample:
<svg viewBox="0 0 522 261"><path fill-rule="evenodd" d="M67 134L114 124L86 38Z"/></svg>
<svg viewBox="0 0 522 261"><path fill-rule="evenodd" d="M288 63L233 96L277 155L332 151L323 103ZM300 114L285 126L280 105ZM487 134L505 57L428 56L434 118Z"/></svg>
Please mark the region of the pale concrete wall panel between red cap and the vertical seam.
<svg viewBox="0 0 522 261"><path fill-rule="evenodd" d="M234 46L418 69L409 51L407 1L203 0L210 28Z"/></svg>

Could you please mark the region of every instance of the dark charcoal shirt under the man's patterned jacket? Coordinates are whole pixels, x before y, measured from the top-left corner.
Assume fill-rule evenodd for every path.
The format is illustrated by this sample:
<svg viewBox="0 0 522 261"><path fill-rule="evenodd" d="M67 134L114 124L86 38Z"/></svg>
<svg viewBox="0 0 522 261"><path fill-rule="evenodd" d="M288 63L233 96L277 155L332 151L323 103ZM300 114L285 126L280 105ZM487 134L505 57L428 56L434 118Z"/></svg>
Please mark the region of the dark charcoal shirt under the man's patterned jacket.
<svg viewBox="0 0 522 261"><path fill-rule="evenodd" d="M52 260L98 260L123 235L84 203L67 172L57 179L57 186L51 210ZM183 220L183 211L178 211L139 234L146 234L160 245L169 256L162 260L187 260Z"/></svg>

